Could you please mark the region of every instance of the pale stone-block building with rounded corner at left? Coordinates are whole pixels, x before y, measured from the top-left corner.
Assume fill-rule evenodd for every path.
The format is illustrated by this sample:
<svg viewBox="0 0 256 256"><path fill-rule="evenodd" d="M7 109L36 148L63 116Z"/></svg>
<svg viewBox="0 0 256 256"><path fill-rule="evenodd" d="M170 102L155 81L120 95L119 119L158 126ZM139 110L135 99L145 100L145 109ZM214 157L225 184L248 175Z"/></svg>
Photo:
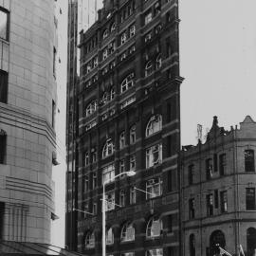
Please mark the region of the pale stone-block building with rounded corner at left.
<svg viewBox="0 0 256 256"><path fill-rule="evenodd" d="M56 164L55 2L0 3L0 239L49 243Z"/></svg>

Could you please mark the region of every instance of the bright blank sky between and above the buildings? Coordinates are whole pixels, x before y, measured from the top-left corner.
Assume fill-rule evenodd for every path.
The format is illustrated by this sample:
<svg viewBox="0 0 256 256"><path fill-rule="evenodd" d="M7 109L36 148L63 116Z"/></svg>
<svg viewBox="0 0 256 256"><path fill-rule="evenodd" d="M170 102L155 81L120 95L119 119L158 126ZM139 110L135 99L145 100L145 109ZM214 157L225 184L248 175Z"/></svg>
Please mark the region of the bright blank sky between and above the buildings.
<svg viewBox="0 0 256 256"><path fill-rule="evenodd" d="M84 0L83 0L84 1ZM63 163L54 168L56 214L52 243L64 247L64 118L67 0L58 1L60 64L59 135ZM101 0L100 0L101 2ZM180 68L182 145L196 143L196 125L203 132L212 117L229 129L250 115L256 120L256 1L180 0Z"/></svg>

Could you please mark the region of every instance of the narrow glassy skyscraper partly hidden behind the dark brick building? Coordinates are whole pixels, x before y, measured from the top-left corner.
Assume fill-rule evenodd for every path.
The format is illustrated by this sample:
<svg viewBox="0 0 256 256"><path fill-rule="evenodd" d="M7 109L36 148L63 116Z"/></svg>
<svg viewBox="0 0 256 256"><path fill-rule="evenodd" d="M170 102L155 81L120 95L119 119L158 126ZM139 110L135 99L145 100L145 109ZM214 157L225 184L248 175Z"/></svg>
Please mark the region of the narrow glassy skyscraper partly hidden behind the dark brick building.
<svg viewBox="0 0 256 256"><path fill-rule="evenodd" d="M96 21L97 0L69 0L68 1L68 35L67 35L67 98L66 98L66 247L76 250L77 239L77 168L76 168L76 123L77 123L77 86L79 82L78 35L82 29L87 29ZM72 230L72 231L71 231Z"/></svg>

